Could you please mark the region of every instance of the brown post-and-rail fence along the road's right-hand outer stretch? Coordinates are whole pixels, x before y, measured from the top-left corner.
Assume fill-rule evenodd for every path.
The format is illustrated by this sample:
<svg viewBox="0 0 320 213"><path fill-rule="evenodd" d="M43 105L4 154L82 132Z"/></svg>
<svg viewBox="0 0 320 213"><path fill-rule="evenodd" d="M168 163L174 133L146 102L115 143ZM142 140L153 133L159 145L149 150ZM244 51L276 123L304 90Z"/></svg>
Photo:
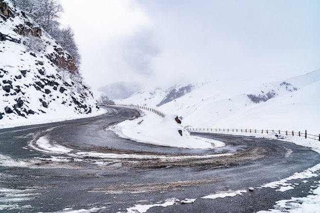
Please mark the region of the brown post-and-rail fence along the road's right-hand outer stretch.
<svg viewBox="0 0 320 213"><path fill-rule="evenodd" d="M304 132L301 132L301 131L299 131L299 132L294 132L294 131L281 131L281 130L277 130L277 131L275 131L275 130L268 130L268 129L266 129L266 130L257 130L257 129L225 129L225 128L223 128L223 129L221 129L221 128L188 128L189 129L189 131L216 131L216 132L221 132L221 131L223 131L223 132L246 132L246 133L259 133L259 132L261 132L262 134L263 133L269 133L269 132L277 132L277 133L279 133L279 134L281 134L281 133L283 133L283 134L286 134L286 135L292 135L292 136L303 136L303 137L305 137L305 138L310 138L310 139L315 139L315 140L319 140L320 141L320 134L319 135L313 135L313 134L307 134L307 130L305 130Z"/></svg>

